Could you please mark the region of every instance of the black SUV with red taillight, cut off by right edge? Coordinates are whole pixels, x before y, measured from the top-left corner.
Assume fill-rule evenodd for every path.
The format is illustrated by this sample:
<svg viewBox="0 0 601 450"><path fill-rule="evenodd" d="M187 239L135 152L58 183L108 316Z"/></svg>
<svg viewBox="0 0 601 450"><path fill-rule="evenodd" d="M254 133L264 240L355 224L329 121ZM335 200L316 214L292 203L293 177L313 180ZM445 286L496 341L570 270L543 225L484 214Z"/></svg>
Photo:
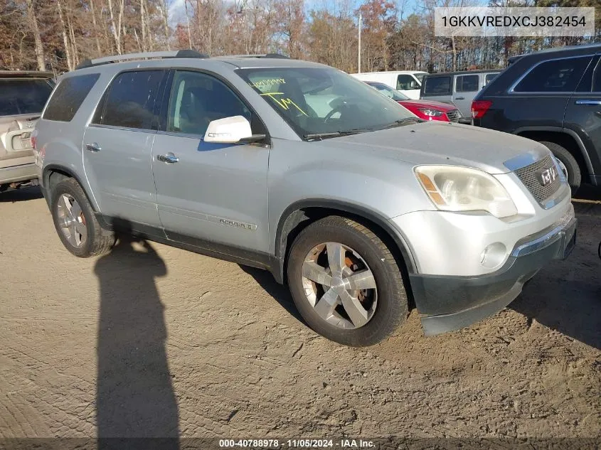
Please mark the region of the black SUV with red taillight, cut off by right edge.
<svg viewBox="0 0 601 450"><path fill-rule="evenodd" d="M474 125L548 146L575 192L601 185L601 45L553 48L509 60L474 98Z"/></svg>

